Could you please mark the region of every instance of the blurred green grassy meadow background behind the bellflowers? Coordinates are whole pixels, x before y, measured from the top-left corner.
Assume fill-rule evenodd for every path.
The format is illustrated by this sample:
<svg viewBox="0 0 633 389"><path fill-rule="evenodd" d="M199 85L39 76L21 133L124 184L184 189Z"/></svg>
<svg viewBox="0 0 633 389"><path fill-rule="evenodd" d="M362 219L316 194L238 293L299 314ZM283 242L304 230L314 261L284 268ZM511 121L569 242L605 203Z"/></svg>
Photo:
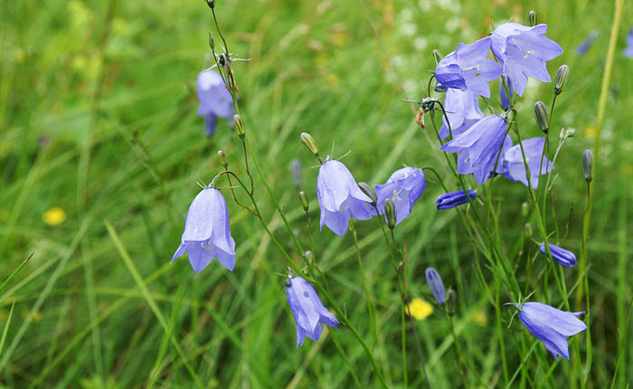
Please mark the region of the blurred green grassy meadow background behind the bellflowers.
<svg viewBox="0 0 633 389"><path fill-rule="evenodd" d="M218 2L231 52L252 59L234 64L250 144L307 246L288 167L293 158L302 162L317 261L339 304L367 339L353 240L349 233L340 238L327 229L317 231L316 161L301 147L299 134L310 132L322 150L333 148L335 157L351 151L344 162L358 181L381 184L402 164L433 166L448 175L429 119L427 134L401 100L422 96L420 80L426 84L435 66L433 49L446 54L507 20L526 23L530 9L564 50L548 63L550 73L562 63L571 69L569 87L557 100L553 139L561 128L576 128L577 136L557 161L553 201L561 231L568 230L566 247L579 252L585 204L581 152L597 135L613 19L610 2ZM595 387L604 387L613 376L632 297L633 60L621 54L631 24L627 4L596 158L589 243L592 315L587 320ZM597 41L585 55L576 54L575 47L592 30L600 33ZM196 379L207 388L354 386L332 333L295 347L283 284L286 263L260 224L228 197L235 270L214 261L195 275L186 258L169 265L187 207L200 190L196 180L208 183L221 169L215 152L225 150L231 169L243 173L241 145L227 123L220 120L216 135L206 138L203 118L196 116L194 82L211 64L209 31L214 31L211 12L202 0L0 4L2 279L34 252L0 290L3 328L11 315L0 353L2 387L190 388ZM490 103L498 109L496 85L491 85ZM531 82L517 104L525 138L540 135L534 102L549 106L552 89L552 84ZM495 310L478 285L473 247L458 213L435 209L441 188L428 178L411 217L397 229L411 259L411 297L428 299L423 271L436 267L445 284L458 291L457 332L469 360L487 387L503 387ZM523 228L520 209L527 191L497 180L501 229L511 246ZM259 178L256 187L264 220L298 257ZM378 311L375 356L379 365L389 366L388 382L399 387L395 275L376 224L355 226ZM524 250L534 254L535 245L527 242ZM136 280L126 256L137 270ZM578 270L568 274L576 280ZM500 296L501 302L507 299ZM504 311L506 326L511 314ZM416 326L431 383L457 387L456 354L440 312ZM517 320L505 329L506 349L516 348L523 332ZM377 384L350 331L342 327L335 337L360 382ZM409 340L411 387L422 387ZM584 344L584 337L578 340ZM535 353L553 364L543 345ZM619 387L633 379L630 353L631 347L624 347ZM512 351L508 356L514 373L521 368L520 358ZM546 373L534 361L524 368L536 382ZM543 384L566 387L575 376L572 369L572 361L559 360L553 378Z"/></svg>

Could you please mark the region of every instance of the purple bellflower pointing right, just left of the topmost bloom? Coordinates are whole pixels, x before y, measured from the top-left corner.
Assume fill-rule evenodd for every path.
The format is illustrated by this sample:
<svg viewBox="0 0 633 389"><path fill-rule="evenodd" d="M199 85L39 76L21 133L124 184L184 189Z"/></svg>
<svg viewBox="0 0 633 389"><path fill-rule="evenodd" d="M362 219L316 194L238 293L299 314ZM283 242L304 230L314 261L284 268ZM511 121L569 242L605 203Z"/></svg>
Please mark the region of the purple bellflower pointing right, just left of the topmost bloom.
<svg viewBox="0 0 633 389"><path fill-rule="evenodd" d="M455 52L442 58L435 68L435 78L445 87L469 90L481 96L490 97L488 81L501 75L503 67L487 58L490 38L482 38L475 43L459 43Z"/></svg>

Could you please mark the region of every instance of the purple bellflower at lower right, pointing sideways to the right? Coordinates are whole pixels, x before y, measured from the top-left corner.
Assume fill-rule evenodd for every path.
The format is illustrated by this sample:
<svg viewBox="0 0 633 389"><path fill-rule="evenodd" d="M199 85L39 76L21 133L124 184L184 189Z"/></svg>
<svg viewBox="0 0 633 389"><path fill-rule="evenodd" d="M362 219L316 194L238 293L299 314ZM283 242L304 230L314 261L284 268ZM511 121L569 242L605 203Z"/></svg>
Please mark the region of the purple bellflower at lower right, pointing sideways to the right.
<svg viewBox="0 0 633 389"><path fill-rule="evenodd" d="M567 338L587 329L587 325L576 318L584 312L567 312L540 302L526 302L516 307L520 309L521 323L543 342L556 361L558 356L570 358Z"/></svg>

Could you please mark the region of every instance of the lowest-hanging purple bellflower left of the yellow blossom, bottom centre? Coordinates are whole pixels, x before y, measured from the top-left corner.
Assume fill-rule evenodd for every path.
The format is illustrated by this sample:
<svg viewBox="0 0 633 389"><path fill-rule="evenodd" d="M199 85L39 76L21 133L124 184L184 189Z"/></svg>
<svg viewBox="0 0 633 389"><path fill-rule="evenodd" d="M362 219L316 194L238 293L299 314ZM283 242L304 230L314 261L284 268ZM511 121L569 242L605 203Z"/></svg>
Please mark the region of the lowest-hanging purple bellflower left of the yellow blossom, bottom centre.
<svg viewBox="0 0 633 389"><path fill-rule="evenodd" d="M306 337L317 341L324 324L338 328L338 320L323 306L307 280L294 277L286 281L286 287L288 304L297 324L297 346L303 345Z"/></svg>

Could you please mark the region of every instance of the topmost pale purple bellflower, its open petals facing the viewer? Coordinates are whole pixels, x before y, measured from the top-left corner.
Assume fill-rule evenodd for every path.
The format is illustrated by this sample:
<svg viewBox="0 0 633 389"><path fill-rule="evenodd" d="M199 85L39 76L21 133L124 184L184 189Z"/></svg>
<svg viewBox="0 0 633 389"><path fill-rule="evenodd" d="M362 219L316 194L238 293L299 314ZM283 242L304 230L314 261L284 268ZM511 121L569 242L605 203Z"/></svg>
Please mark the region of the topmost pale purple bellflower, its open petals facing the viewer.
<svg viewBox="0 0 633 389"><path fill-rule="evenodd" d="M562 49L558 43L544 36L546 32L547 24L527 27L505 23L496 27L490 36L492 52L504 64L504 74L512 78L519 96L523 95L528 77L552 81L545 62L561 55Z"/></svg>

